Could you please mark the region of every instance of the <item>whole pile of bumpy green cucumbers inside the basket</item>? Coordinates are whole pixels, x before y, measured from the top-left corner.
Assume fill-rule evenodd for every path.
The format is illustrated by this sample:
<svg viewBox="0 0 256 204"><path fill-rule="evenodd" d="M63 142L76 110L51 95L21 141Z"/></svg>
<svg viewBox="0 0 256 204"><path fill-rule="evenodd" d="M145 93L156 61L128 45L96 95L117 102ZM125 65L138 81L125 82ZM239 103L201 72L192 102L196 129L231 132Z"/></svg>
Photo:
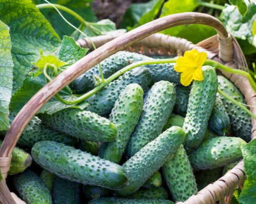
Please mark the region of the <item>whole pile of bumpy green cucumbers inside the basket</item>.
<svg viewBox="0 0 256 204"><path fill-rule="evenodd" d="M101 67L107 78L147 59L119 52ZM203 81L184 87L174 64L137 67L83 110L37 114L13 151L9 188L28 204L185 201L238 163L251 135L250 116L217 90L241 103L244 96L214 68L202 70ZM73 92L92 90L95 75L98 66L70 85Z"/></svg>

